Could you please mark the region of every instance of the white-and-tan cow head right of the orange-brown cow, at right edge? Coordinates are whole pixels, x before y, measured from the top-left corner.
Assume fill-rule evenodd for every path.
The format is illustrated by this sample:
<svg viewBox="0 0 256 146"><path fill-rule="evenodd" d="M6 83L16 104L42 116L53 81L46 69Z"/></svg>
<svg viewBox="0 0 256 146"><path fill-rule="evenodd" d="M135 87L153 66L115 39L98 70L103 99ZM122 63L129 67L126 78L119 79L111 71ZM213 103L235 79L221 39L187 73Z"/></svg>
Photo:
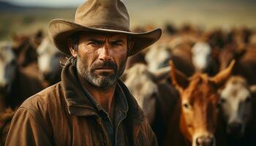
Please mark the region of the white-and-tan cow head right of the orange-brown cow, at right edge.
<svg viewBox="0 0 256 146"><path fill-rule="evenodd" d="M233 76L220 91L221 107L227 125L227 134L240 138L252 119L252 102L255 85L249 86L244 77Z"/></svg>

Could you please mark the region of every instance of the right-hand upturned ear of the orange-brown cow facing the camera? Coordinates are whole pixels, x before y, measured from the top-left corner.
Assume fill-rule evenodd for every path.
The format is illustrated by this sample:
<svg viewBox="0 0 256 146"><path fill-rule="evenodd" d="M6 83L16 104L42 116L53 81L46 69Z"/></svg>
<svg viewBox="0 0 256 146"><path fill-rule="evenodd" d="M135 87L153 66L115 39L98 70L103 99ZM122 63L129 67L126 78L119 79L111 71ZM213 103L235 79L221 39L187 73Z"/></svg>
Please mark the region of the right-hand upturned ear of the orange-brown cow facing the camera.
<svg viewBox="0 0 256 146"><path fill-rule="evenodd" d="M236 62L235 60L232 60L226 69L222 70L221 72L216 74L214 77L211 77L210 80L213 81L214 84L217 85L217 87L222 87L222 85L224 85L225 82L227 82L227 80L229 79L232 73L233 67L235 65L235 62Z"/></svg>

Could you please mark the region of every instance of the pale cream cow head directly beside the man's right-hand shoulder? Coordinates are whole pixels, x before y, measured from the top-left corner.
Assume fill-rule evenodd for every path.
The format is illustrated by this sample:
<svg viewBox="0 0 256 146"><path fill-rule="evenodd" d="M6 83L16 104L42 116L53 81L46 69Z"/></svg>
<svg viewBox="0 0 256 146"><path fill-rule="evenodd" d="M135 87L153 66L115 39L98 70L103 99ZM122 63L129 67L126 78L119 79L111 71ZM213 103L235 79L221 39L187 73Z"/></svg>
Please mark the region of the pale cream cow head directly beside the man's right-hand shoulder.
<svg viewBox="0 0 256 146"><path fill-rule="evenodd" d="M146 113L149 123L153 123L157 96L159 96L157 82L169 74L170 69L168 68L161 69L153 74L148 71L145 64L135 64L127 69L122 76L125 85Z"/></svg>

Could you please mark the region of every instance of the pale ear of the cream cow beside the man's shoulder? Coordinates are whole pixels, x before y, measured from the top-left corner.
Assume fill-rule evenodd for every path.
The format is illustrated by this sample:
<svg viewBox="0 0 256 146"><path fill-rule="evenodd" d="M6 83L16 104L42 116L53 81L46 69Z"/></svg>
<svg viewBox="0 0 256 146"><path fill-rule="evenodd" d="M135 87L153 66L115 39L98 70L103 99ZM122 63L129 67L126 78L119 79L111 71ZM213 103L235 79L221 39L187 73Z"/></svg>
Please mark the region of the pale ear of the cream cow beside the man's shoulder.
<svg viewBox="0 0 256 146"><path fill-rule="evenodd" d="M167 66L162 69L158 69L157 72L152 73L154 82L161 82L162 80L167 79L168 75L170 74L170 67Z"/></svg>

